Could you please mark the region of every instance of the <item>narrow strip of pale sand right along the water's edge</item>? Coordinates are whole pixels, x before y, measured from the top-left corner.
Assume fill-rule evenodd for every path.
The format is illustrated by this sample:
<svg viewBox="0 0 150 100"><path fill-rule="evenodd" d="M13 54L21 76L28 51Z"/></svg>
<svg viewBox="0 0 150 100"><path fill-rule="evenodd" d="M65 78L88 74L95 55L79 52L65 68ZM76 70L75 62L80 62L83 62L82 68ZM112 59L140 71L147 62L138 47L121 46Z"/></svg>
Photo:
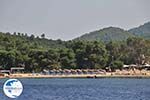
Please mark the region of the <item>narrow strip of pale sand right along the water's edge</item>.
<svg viewBox="0 0 150 100"><path fill-rule="evenodd" d="M72 74L72 75L40 75L40 74L11 74L2 78L150 78L150 75L113 75L113 74Z"/></svg>

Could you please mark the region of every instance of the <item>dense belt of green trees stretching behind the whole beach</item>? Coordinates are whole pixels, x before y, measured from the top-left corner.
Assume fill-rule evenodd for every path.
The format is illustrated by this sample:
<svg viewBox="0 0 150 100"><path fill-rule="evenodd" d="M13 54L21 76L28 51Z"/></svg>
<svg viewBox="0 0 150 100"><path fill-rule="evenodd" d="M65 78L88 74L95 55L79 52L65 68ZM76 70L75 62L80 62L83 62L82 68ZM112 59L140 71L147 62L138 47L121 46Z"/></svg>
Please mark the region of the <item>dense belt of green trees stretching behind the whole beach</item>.
<svg viewBox="0 0 150 100"><path fill-rule="evenodd" d="M150 40L132 37L127 41L62 41L35 38L23 33L0 32L0 66L10 69L24 66L26 72L43 69L98 69L110 66L122 69L123 64L150 62Z"/></svg>

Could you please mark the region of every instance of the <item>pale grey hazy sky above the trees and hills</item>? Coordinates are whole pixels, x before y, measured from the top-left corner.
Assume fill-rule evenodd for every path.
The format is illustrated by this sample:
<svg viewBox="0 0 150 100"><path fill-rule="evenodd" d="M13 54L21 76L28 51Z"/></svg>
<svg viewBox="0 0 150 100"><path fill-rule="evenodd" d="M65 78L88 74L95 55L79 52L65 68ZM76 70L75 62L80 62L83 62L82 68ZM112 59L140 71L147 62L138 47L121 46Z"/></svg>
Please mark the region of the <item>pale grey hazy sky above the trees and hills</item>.
<svg viewBox="0 0 150 100"><path fill-rule="evenodd" d="M69 40L108 26L150 21L150 0L0 0L0 31Z"/></svg>

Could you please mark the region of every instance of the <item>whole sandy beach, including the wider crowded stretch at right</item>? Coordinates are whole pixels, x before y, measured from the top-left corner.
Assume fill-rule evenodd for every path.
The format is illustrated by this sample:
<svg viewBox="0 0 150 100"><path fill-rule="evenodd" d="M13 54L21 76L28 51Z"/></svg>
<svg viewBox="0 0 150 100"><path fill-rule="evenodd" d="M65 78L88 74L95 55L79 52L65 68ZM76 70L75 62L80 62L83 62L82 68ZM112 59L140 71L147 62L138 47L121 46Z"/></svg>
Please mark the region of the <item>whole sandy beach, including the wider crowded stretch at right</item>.
<svg viewBox="0 0 150 100"><path fill-rule="evenodd" d="M103 74L49 74L39 73L16 73L0 76L0 78L150 78L150 71L146 70L122 70L116 72L106 72Z"/></svg>

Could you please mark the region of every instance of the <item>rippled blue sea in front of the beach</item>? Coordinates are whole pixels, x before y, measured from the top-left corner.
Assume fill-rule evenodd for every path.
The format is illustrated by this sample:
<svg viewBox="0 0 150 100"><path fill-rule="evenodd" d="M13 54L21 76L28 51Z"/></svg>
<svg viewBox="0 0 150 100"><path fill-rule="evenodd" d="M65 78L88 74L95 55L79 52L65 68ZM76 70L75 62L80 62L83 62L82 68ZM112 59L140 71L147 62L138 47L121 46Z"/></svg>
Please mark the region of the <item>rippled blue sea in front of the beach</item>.
<svg viewBox="0 0 150 100"><path fill-rule="evenodd" d="M0 100L6 97L0 79ZM19 79L24 90L15 100L150 100L150 79Z"/></svg>

